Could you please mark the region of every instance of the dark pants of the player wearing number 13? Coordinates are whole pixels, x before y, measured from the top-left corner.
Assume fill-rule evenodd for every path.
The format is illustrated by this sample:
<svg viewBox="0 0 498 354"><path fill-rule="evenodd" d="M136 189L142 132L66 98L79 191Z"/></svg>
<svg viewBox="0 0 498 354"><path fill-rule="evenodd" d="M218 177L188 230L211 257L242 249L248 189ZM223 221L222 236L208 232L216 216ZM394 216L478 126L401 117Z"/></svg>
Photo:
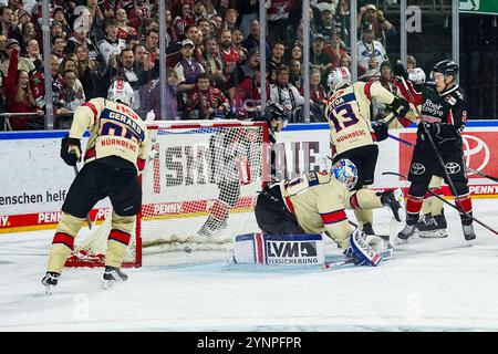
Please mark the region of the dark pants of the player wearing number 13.
<svg viewBox="0 0 498 354"><path fill-rule="evenodd" d="M369 186L374 183L375 166L377 164L378 146L375 144L360 146L351 150L335 155L333 163L341 158L347 158L356 166L357 183L354 190L361 189L362 186Z"/></svg>

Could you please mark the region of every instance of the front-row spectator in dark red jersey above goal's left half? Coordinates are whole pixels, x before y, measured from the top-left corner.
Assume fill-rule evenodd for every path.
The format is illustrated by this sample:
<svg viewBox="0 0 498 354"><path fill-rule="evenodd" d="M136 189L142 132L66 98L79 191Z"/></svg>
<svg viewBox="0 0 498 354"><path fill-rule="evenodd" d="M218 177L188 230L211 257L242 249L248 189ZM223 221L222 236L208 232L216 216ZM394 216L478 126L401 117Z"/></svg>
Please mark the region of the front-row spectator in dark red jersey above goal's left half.
<svg viewBox="0 0 498 354"><path fill-rule="evenodd" d="M219 88L211 87L208 74L203 73L188 93L187 111L191 119L222 119L230 112L230 104Z"/></svg>

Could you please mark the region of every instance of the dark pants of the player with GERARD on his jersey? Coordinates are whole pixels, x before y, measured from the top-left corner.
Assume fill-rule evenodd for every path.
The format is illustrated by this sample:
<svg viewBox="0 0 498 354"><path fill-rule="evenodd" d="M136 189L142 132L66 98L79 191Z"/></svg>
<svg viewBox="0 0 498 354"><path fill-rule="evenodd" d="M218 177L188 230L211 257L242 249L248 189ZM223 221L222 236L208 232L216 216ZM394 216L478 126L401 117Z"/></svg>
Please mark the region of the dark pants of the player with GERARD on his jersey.
<svg viewBox="0 0 498 354"><path fill-rule="evenodd" d="M85 218L98 200L108 197L118 216L136 215L142 207L142 188L135 166L112 163L97 159L85 164L70 187L62 211Z"/></svg>

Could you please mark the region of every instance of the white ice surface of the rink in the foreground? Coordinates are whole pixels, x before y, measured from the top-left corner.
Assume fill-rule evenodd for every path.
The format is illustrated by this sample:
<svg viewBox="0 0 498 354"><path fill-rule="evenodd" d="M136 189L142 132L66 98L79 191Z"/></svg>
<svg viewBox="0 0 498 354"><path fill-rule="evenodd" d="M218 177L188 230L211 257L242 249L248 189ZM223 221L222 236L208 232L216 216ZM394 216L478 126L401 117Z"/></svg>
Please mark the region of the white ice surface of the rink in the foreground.
<svg viewBox="0 0 498 354"><path fill-rule="evenodd" d="M476 199L475 216L498 229L497 205ZM65 269L52 295L53 230L3 233L0 331L498 331L498 237L475 223L469 247L445 209L448 238L413 238L376 268L144 266L111 291L102 269ZM387 233L387 210L374 216Z"/></svg>

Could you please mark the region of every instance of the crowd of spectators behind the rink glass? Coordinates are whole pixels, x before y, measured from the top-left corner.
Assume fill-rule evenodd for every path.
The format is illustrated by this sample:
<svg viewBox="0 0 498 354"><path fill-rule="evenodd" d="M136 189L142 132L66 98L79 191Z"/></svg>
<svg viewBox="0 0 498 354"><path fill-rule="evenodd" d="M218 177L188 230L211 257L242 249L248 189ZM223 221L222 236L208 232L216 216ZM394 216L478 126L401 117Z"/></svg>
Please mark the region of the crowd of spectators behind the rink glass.
<svg viewBox="0 0 498 354"><path fill-rule="evenodd" d="M359 76L378 80L387 60L385 39L396 29L374 4L359 2ZM282 105L289 119L302 119L303 52L309 50L312 122L325 121L328 73L351 67L350 1L311 0L309 49L303 48L301 1L266 0L264 6L267 97ZM106 96L116 77L134 88L133 107L144 119L149 111L155 119L259 115L259 0L168 0L166 7L166 116L160 116L158 1L50 1L55 128L68 128L81 103ZM43 128L41 28L41 1L0 0L0 112L15 114L12 129Z"/></svg>

